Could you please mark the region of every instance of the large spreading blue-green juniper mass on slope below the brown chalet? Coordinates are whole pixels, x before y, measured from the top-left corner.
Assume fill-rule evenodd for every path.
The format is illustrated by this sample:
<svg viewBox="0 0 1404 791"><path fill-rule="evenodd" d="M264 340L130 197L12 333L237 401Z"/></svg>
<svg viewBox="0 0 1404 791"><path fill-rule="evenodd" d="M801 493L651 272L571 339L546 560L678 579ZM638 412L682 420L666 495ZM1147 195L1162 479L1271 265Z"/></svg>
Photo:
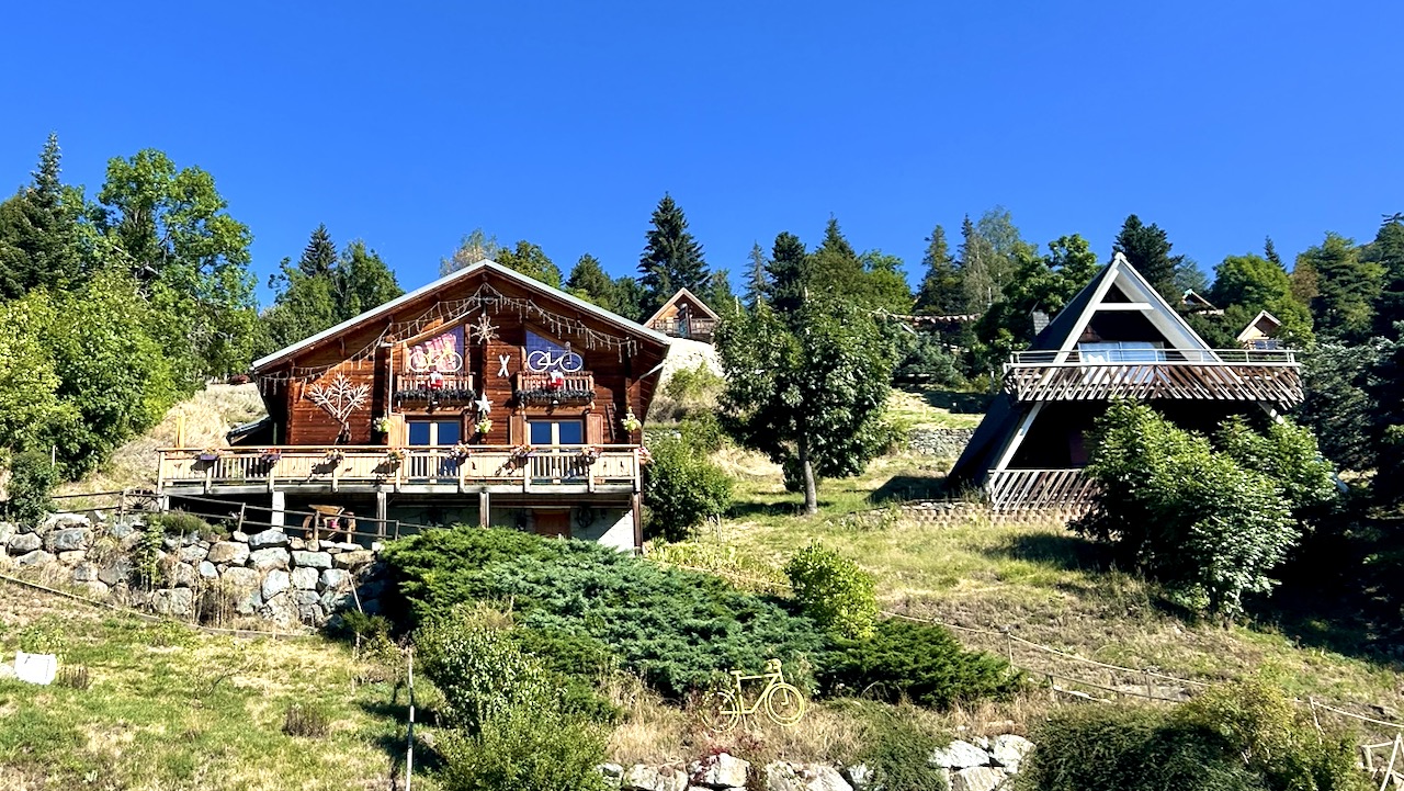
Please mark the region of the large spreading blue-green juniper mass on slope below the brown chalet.
<svg viewBox="0 0 1404 791"><path fill-rule="evenodd" d="M803 667L824 645L813 621L778 601L583 541L458 527L396 541L385 561L411 622L475 600L510 600L519 628L597 641L670 697L772 656Z"/></svg>

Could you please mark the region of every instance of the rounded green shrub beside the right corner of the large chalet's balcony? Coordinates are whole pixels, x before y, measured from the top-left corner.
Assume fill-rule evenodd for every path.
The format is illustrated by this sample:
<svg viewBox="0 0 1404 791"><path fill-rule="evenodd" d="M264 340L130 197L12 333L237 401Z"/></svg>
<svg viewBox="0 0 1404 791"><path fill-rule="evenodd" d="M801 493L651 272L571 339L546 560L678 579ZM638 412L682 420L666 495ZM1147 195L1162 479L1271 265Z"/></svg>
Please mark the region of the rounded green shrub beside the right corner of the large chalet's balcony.
<svg viewBox="0 0 1404 791"><path fill-rule="evenodd" d="M731 478L706 454L681 438L656 441L653 464L643 468L643 504L650 537L688 538L705 520L731 504Z"/></svg>

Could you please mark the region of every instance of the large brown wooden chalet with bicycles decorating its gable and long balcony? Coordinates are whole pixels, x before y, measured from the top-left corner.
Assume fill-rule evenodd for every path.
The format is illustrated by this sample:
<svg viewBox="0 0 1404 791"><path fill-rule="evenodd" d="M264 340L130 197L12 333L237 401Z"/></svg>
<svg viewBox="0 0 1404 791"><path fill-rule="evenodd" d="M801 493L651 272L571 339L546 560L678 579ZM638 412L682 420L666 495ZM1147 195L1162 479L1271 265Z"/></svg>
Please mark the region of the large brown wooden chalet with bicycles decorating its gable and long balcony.
<svg viewBox="0 0 1404 791"><path fill-rule="evenodd" d="M256 361L265 424L232 448L161 450L160 492L271 507L274 524L350 510L379 530L507 525L635 549L635 420L667 348L479 261Z"/></svg>

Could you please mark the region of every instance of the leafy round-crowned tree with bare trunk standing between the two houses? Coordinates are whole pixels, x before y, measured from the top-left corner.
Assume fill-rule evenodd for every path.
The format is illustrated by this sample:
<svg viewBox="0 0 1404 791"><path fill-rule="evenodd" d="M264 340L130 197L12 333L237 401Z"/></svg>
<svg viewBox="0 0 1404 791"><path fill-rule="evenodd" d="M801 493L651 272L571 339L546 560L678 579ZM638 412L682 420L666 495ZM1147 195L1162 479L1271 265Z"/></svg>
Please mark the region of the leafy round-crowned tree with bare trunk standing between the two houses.
<svg viewBox="0 0 1404 791"><path fill-rule="evenodd" d="M726 423L785 469L819 510L819 479L861 472L890 438L883 410L896 351L862 309L812 295L786 322L762 303L716 333Z"/></svg>

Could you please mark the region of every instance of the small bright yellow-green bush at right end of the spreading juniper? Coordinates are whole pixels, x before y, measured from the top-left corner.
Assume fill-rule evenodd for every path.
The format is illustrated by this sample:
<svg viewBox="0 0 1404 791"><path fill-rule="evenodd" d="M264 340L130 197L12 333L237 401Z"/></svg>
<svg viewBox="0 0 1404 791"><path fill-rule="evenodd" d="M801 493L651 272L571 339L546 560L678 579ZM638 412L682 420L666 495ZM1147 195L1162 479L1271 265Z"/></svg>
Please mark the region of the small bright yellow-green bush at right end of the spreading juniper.
<svg viewBox="0 0 1404 791"><path fill-rule="evenodd" d="M878 621L873 576L834 549L810 544L785 563L800 611L844 638L866 638Z"/></svg>

